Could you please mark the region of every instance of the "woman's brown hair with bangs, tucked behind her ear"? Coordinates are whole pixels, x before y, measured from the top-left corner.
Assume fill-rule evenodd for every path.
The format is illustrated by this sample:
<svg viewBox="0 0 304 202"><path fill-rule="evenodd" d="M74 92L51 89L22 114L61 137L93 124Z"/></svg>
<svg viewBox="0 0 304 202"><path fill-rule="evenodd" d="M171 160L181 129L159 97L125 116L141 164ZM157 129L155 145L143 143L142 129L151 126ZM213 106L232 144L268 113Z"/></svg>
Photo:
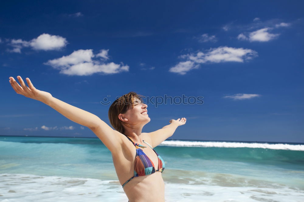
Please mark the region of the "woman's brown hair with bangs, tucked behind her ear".
<svg viewBox="0 0 304 202"><path fill-rule="evenodd" d="M118 115L126 113L130 106L133 107L135 98L143 102L142 97L143 97L142 95L139 95L135 92L130 92L117 98L110 106L108 112L109 120L113 128L117 130L119 133L122 134L125 133L125 129L123 125L130 128L131 124L119 120Z"/></svg>

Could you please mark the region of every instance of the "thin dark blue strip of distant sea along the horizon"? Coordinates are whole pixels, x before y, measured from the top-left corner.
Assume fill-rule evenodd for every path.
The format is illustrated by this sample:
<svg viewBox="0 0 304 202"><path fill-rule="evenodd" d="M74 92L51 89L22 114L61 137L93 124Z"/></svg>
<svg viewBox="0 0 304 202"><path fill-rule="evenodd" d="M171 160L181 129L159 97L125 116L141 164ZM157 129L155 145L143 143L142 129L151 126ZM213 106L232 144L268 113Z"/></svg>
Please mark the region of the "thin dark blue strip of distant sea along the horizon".
<svg viewBox="0 0 304 202"><path fill-rule="evenodd" d="M54 137L54 138L80 138L80 139L99 139L98 137L76 137L76 136L29 136L29 135L0 135L0 137ZM301 144L296 142L265 142L265 141L241 141L241 140L187 140L187 139L166 139L166 140L179 140L179 141L208 141L208 142L240 142L240 143L288 143L288 144ZM166 141L165 140L165 141Z"/></svg>

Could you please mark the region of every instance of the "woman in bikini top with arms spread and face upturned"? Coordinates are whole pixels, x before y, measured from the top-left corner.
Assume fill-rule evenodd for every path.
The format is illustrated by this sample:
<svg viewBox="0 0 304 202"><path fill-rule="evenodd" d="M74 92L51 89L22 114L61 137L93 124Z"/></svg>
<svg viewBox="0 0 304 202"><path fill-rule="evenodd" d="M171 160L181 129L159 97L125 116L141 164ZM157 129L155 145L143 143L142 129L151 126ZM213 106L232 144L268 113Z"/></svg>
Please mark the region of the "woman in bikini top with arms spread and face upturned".
<svg viewBox="0 0 304 202"><path fill-rule="evenodd" d="M120 184L130 202L163 202L164 160L153 149L172 136L178 126L186 123L185 118L170 120L170 124L151 133L142 133L142 128L150 122L147 105L134 92L116 99L109 108L109 120L113 130L98 116L69 105L50 93L36 89L29 78L26 86L20 76L20 85L13 77L9 82L17 94L39 100L68 119L87 126L111 151L114 167ZM135 148L134 148L135 147Z"/></svg>

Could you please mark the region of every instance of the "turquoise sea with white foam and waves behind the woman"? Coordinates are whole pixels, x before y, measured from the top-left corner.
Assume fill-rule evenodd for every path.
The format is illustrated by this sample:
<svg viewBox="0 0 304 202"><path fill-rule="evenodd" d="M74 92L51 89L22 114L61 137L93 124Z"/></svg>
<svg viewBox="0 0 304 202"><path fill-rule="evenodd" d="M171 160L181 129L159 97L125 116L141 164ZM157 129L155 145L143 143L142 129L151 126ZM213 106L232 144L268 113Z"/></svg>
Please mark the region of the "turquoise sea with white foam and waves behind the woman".
<svg viewBox="0 0 304 202"><path fill-rule="evenodd" d="M166 201L302 202L304 144L165 140ZM97 138L0 136L0 202L128 201Z"/></svg>

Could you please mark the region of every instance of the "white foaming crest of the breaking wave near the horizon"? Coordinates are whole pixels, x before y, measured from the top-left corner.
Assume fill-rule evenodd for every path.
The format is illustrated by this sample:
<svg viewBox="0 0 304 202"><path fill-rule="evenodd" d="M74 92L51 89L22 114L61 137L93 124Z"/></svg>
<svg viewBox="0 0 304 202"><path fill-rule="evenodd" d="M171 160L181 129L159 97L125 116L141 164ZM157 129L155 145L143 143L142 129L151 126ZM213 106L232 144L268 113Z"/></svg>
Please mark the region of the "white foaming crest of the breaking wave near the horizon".
<svg viewBox="0 0 304 202"><path fill-rule="evenodd" d="M165 140L160 145L163 146L197 146L197 147L226 147L226 148L262 148L272 150L295 150L304 151L304 145L292 144L269 144L269 143L237 143L237 142L201 142L201 141L180 141L180 140Z"/></svg>

